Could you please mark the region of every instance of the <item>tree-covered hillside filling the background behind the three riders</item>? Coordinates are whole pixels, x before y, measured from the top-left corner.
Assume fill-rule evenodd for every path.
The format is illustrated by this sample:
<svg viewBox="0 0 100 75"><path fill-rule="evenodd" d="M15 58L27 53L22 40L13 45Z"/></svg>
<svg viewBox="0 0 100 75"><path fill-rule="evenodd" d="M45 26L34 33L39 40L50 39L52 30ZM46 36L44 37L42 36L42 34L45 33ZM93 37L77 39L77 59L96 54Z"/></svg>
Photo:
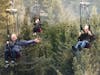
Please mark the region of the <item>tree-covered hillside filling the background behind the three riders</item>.
<svg viewBox="0 0 100 75"><path fill-rule="evenodd" d="M44 9L42 2L39 3ZM76 56L72 53L72 46L76 44L79 33L79 18L77 13L79 0L53 0L52 6L45 9L50 11L48 20L41 17L43 32L38 34L41 43L23 47L22 56L17 60L17 65L8 69L4 68L4 47L7 40L7 22L9 21L10 33L13 25L18 25L19 37L22 40L36 38L32 34L33 21L30 20L30 8L34 0L16 0L15 7L19 10L18 20L7 18L5 10L9 8L8 0L0 1L0 75L100 75L100 14L94 7L89 20L95 40L90 48L84 48ZM90 0L91 1L91 0ZM92 1L91 1L92 2ZM66 4L67 3L67 4ZM71 4L70 4L71 3ZM99 6L99 0L92 2ZM27 5L26 5L27 4ZM64 6L63 6L64 5ZM70 7L64 11L63 7ZM72 8L75 12L72 11ZM57 10L55 10L58 8ZM50 9L50 10L49 10ZM11 15L9 15L11 16ZM64 17L66 16L66 17ZM32 16L31 16L32 17ZM14 18L14 17L13 17ZM47 18L46 18L47 19ZM14 24L12 24L15 22ZM83 21L84 22L84 21Z"/></svg>

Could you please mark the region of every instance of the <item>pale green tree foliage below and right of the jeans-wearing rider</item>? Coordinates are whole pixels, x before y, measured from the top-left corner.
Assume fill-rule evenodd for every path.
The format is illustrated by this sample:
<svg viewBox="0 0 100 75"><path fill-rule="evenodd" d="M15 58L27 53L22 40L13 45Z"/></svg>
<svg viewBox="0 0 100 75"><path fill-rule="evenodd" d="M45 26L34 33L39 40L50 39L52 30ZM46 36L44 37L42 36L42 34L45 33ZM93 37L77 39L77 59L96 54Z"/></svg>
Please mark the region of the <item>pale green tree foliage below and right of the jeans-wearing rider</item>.
<svg viewBox="0 0 100 75"><path fill-rule="evenodd" d="M91 17L90 26L96 40L92 42L91 48L83 49L80 56L74 57L73 65L75 75L99 75L99 57L100 57L100 22L99 15Z"/></svg>

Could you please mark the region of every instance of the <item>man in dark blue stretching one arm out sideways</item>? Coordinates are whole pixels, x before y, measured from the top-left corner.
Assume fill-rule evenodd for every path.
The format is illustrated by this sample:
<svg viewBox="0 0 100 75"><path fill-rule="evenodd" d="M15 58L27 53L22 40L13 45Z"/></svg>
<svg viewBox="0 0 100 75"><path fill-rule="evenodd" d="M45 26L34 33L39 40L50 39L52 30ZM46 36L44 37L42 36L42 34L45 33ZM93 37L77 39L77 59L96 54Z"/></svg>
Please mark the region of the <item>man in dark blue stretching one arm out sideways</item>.
<svg viewBox="0 0 100 75"><path fill-rule="evenodd" d="M5 63L9 63L9 58L11 59L11 63L15 63L17 57L20 55L20 50L22 49L22 46L28 46L30 44L37 44L40 42L39 38L36 38L34 40L18 40L16 34L11 34L11 41L6 42L5 45Z"/></svg>

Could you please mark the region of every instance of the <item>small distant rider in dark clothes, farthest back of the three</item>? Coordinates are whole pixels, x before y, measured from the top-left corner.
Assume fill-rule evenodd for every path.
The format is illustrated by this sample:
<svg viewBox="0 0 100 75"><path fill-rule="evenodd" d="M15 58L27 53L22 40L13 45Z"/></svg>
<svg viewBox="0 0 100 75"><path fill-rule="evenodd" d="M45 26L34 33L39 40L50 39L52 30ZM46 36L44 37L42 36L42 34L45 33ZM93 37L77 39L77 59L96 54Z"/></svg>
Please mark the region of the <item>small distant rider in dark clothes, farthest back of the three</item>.
<svg viewBox="0 0 100 75"><path fill-rule="evenodd" d="M42 31L42 28L41 28L40 18L35 17L34 18L33 35L36 35L36 33L40 33L41 31Z"/></svg>

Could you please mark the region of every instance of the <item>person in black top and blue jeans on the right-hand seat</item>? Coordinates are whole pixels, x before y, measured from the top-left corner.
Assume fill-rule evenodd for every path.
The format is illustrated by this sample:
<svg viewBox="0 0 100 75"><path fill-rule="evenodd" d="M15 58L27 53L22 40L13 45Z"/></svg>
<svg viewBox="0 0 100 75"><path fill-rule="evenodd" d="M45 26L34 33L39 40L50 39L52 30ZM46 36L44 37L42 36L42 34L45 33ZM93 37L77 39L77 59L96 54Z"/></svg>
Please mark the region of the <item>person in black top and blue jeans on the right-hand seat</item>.
<svg viewBox="0 0 100 75"><path fill-rule="evenodd" d="M82 29L82 32L79 33L78 42L75 46L72 46L73 51L81 51L82 48L89 48L90 42L93 41L93 34L90 30L90 27L86 24Z"/></svg>

